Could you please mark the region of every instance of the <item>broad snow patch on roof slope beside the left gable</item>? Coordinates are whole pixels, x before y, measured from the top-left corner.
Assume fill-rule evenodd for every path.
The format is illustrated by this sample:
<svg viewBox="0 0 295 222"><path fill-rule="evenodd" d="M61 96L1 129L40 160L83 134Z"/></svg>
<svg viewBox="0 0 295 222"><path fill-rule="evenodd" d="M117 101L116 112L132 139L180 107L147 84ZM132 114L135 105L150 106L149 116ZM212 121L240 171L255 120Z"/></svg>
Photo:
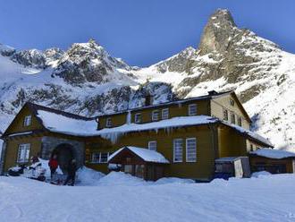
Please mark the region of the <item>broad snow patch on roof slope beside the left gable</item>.
<svg viewBox="0 0 295 222"><path fill-rule="evenodd" d="M61 132L77 136L88 136L90 133L97 132L97 122L95 120L71 118L45 110L38 110L37 113L43 125L51 132Z"/></svg>

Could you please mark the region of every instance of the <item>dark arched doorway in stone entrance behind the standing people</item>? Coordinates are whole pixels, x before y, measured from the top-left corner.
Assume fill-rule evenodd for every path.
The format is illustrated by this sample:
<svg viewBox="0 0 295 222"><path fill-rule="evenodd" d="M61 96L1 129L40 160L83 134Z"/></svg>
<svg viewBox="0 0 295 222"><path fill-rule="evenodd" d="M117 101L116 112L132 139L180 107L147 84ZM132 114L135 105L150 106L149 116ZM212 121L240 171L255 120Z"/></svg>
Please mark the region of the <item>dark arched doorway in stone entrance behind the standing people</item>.
<svg viewBox="0 0 295 222"><path fill-rule="evenodd" d="M67 173L68 165L72 158L75 158L74 149L72 145L63 143L58 145L53 151L51 156L57 157L58 165L63 170L64 173Z"/></svg>

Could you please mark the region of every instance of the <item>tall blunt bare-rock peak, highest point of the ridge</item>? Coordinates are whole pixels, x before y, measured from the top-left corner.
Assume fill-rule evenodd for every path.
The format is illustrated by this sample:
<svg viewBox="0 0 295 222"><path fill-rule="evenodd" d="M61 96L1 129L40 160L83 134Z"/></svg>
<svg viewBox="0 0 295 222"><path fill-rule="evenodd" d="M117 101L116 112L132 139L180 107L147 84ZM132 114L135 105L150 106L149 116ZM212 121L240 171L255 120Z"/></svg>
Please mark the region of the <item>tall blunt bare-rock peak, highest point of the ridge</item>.
<svg viewBox="0 0 295 222"><path fill-rule="evenodd" d="M228 10L218 9L206 23L198 46L200 54L226 51L235 30L236 24L233 21L232 14Z"/></svg>

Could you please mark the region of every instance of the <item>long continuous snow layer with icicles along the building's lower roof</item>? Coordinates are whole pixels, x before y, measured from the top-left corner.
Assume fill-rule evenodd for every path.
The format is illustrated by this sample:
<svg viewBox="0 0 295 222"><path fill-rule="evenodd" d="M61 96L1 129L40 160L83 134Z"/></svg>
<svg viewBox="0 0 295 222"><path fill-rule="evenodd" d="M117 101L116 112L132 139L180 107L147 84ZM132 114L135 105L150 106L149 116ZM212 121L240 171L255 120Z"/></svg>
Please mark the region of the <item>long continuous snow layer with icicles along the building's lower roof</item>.
<svg viewBox="0 0 295 222"><path fill-rule="evenodd" d="M235 124L228 124L208 115L179 116L147 124L126 123L117 127L104 128L97 131L97 122L94 119L80 117L79 115L63 115L63 112L56 113L43 109L38 109L36 113L38 118L41 119L42 124L51 132L60 132L75 136L101 136L102 138L110 140L114 143L120 136L127 132L140 132L148 130L157 132L160 129L169 131L173 128L181 126L214 124L221 122L222 124L232 127L238 132L248 135L254 140L262 141L265 145L270 147L273 146L270 141L255 132L251 132Z"/></svg>

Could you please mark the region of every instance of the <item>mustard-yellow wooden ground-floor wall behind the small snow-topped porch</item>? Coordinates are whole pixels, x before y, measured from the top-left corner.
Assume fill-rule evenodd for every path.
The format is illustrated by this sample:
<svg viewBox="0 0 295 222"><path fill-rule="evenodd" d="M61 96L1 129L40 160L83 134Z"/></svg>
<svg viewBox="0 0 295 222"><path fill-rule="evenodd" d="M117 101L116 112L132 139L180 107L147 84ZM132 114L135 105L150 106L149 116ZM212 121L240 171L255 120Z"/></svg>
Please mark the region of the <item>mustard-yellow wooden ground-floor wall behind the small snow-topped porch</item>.
<svg viewBox="0 0 295 222"><path fill-rule="evenodd" d="M186 162L185 139L190 137L197 138L197 162L195 163ZM183 161L181 163L173 163L173 139L178 138L184 140L182 149ZM165 132L164 130L159 130L157 133L155 131L132 132L122 136L115 144L109 144L101 149L99 147L93 148L93 145L91 148L91 143L97 142L98 144L101 140L89 141L86 145L86 149L89 149L90 153L87 160L90 161L92 152L111 152L128 145L147 148L148 141L156 141L157 151L162 153L171 163L171 165L165 168L166 176L208 179L214 172L215 154L212 140L212 132L207 125L183 127L174 129L173 132ZM107 173L107 164L91 164L89 162L87 166Z"/></svg>

